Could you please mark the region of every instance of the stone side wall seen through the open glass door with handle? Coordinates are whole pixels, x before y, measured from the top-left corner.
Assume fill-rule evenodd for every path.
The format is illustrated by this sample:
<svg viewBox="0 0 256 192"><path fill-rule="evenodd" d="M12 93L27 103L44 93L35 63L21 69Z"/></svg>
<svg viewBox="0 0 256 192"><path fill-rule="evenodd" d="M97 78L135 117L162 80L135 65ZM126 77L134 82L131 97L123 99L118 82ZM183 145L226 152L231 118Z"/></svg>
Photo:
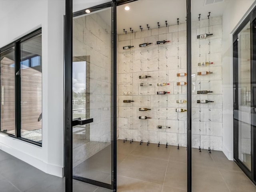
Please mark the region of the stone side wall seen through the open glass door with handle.
<svg viewBox="0 0 256 192"><path fill-rule="evenodd" d="M110 21L111 9L104 12ZM90 73L90 80L86 80L86 87L89 88L86 92L90 94L90 100L86 102L89 102L90 109L86 109L86 113L90 112L90 118L93 118L93 122L87 125L90 132L85 132L90 134L86 136L90 141L81 140L78 145L74 145L75 166L111 142L111 26L106 24L100 13L74 18L73 56L90 58L87 68L90 71L86 72Z"/></svg>

